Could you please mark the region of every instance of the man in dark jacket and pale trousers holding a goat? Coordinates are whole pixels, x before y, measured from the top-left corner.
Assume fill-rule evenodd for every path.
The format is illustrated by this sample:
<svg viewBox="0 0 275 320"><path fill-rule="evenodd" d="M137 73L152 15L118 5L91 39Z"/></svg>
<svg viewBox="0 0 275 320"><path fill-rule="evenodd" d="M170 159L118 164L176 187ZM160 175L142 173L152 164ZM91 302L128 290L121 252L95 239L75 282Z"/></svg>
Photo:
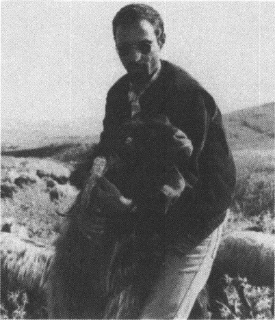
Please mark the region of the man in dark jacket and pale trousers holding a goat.
<svg viewBox="0 0 275 320"><path fill-rule="evenodd" d="M187 72L161 59L166 35L159 13L149 5L127 5L116 14L113 32L127 75L107 94L99 153L112 154L125 121L159 114L187 135L189 139L179 137L183 148L189 141L194 148L187 170L183 168L186 161L184 165L178 161L189 187L168 212L166 258L140 315L144 319L187 318L211 271L233 196L235 165L211 95ZM131 199L106 179L99 180L97 190L105 208L131 211Z"/></svg>

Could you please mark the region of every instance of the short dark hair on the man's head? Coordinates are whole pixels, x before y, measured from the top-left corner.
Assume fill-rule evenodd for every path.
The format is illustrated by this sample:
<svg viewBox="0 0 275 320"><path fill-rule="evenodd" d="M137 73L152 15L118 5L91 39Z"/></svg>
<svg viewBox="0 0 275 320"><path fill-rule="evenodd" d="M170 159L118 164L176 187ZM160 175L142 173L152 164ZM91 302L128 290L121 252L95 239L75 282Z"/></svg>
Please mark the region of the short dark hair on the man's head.
<svg viewBox="0 0 275 320"><path fill-rule="evenodd" d="M164 24L161 15L157 10L143 3L132 3L121 8L113 20L113 34L116 36L116 28L119 25L131 25L139 20L147 20L155 29L156 36L164 33ZM160 29L160 34L157 30Z"/></svg>

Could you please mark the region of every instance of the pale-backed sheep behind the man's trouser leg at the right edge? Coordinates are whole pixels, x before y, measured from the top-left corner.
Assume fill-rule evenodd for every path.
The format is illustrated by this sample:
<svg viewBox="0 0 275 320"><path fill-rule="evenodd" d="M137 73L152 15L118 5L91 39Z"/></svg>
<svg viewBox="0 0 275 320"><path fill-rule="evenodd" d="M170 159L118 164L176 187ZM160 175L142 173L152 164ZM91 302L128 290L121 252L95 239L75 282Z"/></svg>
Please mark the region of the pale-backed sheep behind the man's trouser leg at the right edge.
<svg viewBox="0 0 275 320"><path fill-rule="evenodd" d="M227 282L225 274L233 278L232 284L244 308L243 316L253 318L250 302L244 294L242 278L254 286L274 288L274 235L245 230L231 232L223 237L207 282L213 319L220 317L220 303L230 308L224 292ZM231 312L234 313L234 310Z"/></svg>

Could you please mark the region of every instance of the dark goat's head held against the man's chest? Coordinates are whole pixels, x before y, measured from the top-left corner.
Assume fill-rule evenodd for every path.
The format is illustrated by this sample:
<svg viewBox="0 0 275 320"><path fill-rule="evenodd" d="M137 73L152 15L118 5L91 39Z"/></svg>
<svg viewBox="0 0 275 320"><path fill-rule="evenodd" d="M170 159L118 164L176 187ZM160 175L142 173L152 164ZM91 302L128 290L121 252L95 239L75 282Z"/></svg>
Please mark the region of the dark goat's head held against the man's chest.
<svg viewBox="0 0 275 320"><path fill-rule="evenodd" d="M161 114L144 121L129 121L120 134L115 184L122 182L122 188L127 186L127 196L135 200L150 198L164 186L165 194L178 197L185 183L175 165L179 158L188 159L192 153L192 144L185 133Z"/></svg>

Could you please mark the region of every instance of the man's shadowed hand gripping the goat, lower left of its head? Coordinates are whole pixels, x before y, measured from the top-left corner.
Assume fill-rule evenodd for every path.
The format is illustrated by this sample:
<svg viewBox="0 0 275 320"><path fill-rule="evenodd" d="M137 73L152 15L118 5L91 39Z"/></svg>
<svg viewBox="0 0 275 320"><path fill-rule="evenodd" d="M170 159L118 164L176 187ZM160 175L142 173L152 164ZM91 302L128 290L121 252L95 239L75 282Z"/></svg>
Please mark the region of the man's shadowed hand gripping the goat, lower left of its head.
<svg viewBox="0 0 275 320"><path fill-rule="evenodd" d="M110 215L116 212L131 211L133 201L122 196L118 188L104 176L97 179L95 188L96 205L103 213Z"/></svg>

